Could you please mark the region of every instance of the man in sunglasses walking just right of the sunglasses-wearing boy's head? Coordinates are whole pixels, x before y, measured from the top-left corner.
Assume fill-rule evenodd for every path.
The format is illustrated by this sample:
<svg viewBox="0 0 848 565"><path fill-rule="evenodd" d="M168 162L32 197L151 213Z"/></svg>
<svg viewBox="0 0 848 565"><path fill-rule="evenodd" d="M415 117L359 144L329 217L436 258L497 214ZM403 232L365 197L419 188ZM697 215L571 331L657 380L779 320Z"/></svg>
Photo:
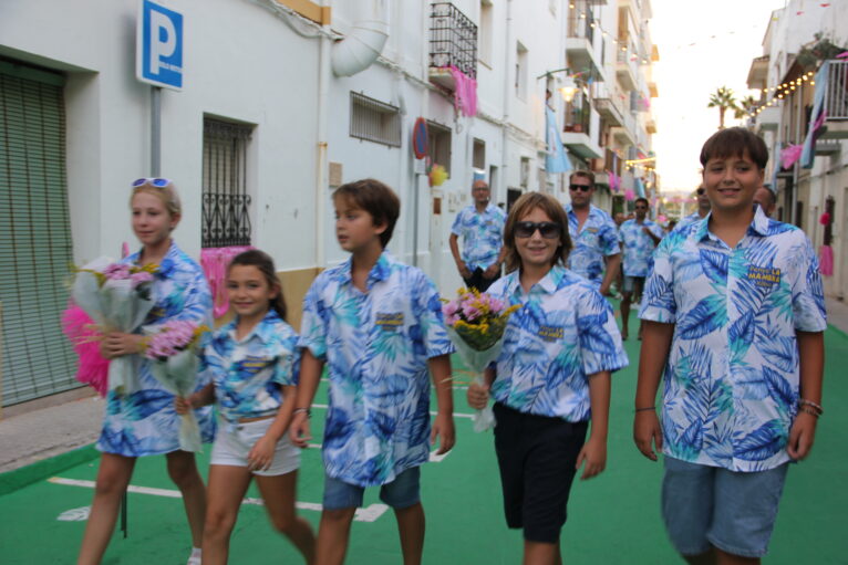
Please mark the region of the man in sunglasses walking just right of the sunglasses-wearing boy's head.
<svg viewBox="0 0 848 565"><path fill-rule="evenodd" d="M576 170L569 178L571 203L568 212L568 232L573 249L568 255L568 268L591 282L601 294L609 294L621 265L621 249L616 222L610 215L592 206L594 174Z"/></svg>

